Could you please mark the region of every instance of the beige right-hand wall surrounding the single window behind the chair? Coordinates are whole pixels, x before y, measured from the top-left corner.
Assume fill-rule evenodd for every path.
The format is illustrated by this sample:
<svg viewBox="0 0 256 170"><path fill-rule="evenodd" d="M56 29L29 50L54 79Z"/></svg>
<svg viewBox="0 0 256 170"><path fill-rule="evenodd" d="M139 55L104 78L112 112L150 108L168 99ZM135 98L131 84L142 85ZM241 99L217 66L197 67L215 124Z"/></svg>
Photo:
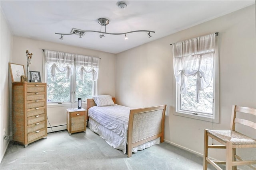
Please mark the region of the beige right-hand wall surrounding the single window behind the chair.
<svg viewBox="0 0 256 170"><path fill-rule="evenodd" d="M165 141L202 154L204 129L212 129L212 123L174 115L175 83L170 43L219 32L220 121L214 123L213 129L228 129L233 104L256 107L255 30L253 5L117 54L117 102L129 107L167 104ZM250 136L256 135L241 130ZM255 150L248 152L255 154ZM210 152L210 156L216 157L218 153Z"/></svg>

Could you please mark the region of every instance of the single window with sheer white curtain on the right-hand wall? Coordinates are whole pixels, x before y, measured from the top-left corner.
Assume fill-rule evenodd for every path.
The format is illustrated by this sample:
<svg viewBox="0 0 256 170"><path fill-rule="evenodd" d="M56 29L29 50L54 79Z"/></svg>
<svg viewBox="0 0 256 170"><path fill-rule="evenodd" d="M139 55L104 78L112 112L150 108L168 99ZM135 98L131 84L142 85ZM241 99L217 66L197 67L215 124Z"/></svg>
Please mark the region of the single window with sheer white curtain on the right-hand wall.
<svg viewBox="0 0 256 170"><path fill-rule="evenodd" d="M215 34L173 45L176 113L218 123L218 50Z"/></svg>

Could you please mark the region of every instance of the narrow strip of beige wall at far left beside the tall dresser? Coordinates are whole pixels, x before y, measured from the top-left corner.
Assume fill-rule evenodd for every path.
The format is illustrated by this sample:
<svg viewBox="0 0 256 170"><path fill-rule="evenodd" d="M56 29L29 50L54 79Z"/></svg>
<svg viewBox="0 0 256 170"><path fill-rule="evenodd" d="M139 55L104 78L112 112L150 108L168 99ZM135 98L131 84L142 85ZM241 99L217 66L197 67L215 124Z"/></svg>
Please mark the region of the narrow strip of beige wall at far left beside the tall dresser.
<svg viewBox="0 0 256 170"><path fill-rule="evenodd" d="M10 134L10 76L8 63L12 61L12 33L6 23L6 20L0 12L1 16L1 40L0 40L0 162L4 157L4 153L8 147L9 141L4 141L4 131Z"/></svg>

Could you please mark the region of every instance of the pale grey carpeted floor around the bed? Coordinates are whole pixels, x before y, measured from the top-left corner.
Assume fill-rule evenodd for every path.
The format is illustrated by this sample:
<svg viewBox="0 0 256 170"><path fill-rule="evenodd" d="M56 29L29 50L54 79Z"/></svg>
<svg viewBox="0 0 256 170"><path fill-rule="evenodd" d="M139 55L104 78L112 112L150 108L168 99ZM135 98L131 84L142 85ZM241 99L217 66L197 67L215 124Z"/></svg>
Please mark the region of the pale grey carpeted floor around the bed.
<svg viewBox="0 0 256 170"><path fill-rule="evenodd" d="M10 142L1 170L202 170L201 156L166 142L127 154L90 131L49 133L24 148ZM209 165L209 169L214 169Z"/></svg>

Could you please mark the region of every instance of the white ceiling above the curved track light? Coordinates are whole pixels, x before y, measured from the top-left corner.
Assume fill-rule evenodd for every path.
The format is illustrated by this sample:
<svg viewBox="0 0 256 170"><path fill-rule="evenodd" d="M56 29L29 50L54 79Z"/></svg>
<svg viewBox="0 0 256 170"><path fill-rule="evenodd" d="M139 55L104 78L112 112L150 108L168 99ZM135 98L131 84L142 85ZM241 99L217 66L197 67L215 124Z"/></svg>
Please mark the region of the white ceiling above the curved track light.
<svg viewBox="0 0 256 170"><path fill-rule="evenodd" d="M127 8L120 9L118 2L0 0L0 6L14 35L120 53L255 3L254 0L124 0ZM62 41L55 34L70 33L73 27L100 31L98 18L110 20L106 32L151 30L156 33L151 33L151 38L145 32L130 33L128 40L124 40L124 35L105 34L100 38L100 33L87 32L82 38L64 35Z"/></svg>

